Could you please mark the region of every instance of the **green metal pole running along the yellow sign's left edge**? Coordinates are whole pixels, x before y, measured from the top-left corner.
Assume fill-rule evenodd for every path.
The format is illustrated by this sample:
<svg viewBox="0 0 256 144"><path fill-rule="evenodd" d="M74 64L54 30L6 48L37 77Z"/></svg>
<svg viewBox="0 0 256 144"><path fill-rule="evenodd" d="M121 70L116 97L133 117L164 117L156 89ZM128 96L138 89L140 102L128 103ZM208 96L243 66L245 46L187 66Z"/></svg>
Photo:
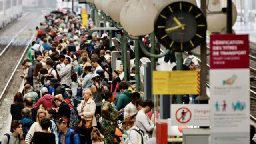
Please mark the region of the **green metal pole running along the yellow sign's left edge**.
<svg viewBox="0 0 256 144"><path fill-rule="evenodd" d="M155 43L156 43L156 41L155 41L155 33L154 32L152 32L151 34L150 34L150 43L151 43L151 49L150 49L150 52L151 52L151 54L155 54ZM156 70L156 58L150 58L150 64L151 64L151 74L153 74L153 71L154 70ZM153 76L151 76L151 100L153 100L154 101L154 95L153 95L153 88L152 88L152 86L153 86Z"/></svg>

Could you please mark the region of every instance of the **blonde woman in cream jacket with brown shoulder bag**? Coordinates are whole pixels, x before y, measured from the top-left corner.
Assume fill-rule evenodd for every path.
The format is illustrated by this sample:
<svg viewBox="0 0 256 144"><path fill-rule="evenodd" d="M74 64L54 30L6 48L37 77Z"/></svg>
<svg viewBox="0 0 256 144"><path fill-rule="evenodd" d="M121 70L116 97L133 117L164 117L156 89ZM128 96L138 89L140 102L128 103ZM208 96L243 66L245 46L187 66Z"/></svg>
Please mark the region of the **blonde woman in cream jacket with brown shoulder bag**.
<svg viewBox="0 0 256 144"><path fill-rule="evenodd" d="M81 122L78 125L80 131L81 143L92 144L90 134L92 127L97 126L96 118L94 116L96 110L96 104L92 97L92 92L89 89L83 90L83 98L80 105L77 107L78 114L81 116Z"/></svg>

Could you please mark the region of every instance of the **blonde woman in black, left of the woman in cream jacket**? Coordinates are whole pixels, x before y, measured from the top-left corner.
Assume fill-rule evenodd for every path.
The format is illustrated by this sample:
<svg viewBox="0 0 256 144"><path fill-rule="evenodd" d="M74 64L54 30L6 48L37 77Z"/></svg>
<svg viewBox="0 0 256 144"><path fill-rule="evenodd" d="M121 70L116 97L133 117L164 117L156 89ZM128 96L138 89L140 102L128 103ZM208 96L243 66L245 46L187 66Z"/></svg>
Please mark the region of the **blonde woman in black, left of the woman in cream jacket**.
<svg viewBox="0 0 256 144"><path fill-rule="evenodd" d="M70 120L70 108L68 104L66 104L62 94L57 94L56 96L54 96L54 103L59 108L57 112L58 118L66 116Z"/></svg>

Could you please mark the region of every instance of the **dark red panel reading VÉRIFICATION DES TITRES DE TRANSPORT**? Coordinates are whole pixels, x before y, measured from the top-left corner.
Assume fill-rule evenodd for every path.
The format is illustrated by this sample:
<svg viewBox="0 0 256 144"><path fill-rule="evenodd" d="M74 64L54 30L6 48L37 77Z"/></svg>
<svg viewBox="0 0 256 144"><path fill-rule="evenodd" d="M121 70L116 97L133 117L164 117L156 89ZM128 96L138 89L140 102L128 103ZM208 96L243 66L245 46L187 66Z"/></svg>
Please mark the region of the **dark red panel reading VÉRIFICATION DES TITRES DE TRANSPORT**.
<svg viewBox="0 0 256 144"><path fill-rule="evenodd" d="M249 68L249 36L213 34L210 36L211 69Z"/></svg>

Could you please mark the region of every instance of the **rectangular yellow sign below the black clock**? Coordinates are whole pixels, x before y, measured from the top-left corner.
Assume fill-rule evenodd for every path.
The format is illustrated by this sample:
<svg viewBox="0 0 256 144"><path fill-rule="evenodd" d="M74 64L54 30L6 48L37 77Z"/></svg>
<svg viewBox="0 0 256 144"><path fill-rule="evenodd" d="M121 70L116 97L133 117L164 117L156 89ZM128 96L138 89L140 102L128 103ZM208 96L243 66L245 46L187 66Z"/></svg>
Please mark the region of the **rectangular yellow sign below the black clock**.
<svg viewBox="0 0 256 144"><path fill-rule="evenodd" d="M199 94L198 72L154 71L153 94Z"/></svg>

